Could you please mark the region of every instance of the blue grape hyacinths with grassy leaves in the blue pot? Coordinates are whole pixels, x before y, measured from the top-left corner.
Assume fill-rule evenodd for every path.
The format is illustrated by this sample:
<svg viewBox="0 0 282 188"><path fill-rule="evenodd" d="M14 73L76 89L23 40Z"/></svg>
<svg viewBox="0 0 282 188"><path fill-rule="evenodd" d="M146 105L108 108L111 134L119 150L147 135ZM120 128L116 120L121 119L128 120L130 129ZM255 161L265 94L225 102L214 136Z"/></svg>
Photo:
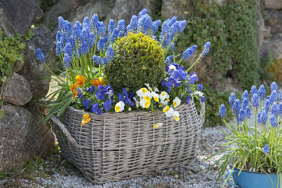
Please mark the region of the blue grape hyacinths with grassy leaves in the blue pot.
<svg viewBox="0 0 282 188"><path fill-rule="evenodd" d="M220 117L230 131L221 129L226 134L223 139L227 141L221 146L226 149L214 154L223 156L208 170L222 161L219 166L220 177L230 167L222 187L227 182L241 188L282 187L282 92L279 92L277 84L273 82L270 96L265 98L265 95L264 85L258 90L253 85L250 91L251 109L247 90L244 91L241 101L232 92L229 102L234 124L228 124L224 119L225 105L222 104L219 109ZM252 111L254 122L250 120ZM230 175L234 183L229 181Z"/></svg>

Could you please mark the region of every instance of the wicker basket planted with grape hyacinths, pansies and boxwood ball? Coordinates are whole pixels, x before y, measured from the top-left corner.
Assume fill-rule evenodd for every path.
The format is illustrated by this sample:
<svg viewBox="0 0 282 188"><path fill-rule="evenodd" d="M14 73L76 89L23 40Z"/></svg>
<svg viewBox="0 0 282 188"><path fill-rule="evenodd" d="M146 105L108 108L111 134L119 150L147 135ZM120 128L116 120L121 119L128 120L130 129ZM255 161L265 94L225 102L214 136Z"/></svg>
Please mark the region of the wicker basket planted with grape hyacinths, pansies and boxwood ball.
<svg viewBox="0 0 282 188"><path fill-rule="evenodd" d="M58 21L56 54L65 78L46 66L40 48L38 60L58 82L43 120L58 126L52 129L62 155L93 183L192 163L205 97L197 74L188 72L208 54L210 42L185 70L180 64L197 48L175 51L186 20L164 21L158 38L161 21L152 21L146 9L127 27L124 20L110 20L107 32L97 14L73 26Z"/></svg>

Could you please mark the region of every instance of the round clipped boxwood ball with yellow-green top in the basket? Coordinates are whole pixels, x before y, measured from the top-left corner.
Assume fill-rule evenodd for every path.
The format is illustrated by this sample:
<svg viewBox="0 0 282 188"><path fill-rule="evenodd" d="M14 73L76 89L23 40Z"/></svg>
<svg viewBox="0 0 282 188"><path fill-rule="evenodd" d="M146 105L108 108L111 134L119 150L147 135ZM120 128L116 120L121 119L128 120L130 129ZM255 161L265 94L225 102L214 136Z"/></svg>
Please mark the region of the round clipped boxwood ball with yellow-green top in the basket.
<svg viewBox="0 0 282 188"><path fill-rule="evenodd" d="M157 87L165 77L164 50L143 33L127 33L113 43L114 59L106 67L107 81L115 90L137 91L149 83Z"/></svg>

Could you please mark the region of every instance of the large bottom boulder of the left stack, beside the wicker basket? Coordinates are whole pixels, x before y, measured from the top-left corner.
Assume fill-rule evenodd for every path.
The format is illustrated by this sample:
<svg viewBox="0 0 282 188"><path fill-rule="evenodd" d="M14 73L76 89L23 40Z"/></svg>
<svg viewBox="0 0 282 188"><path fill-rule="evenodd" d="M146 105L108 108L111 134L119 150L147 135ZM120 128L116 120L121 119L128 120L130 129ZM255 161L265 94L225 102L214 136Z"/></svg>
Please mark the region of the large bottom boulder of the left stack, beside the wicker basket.
<svg viewBox="0 0 282 188"><path fill-rule="evenodd" d="M8 104L0 125L0 171L21 168L33 154L47 152L54 145L54 134L36 113Z"/></svg>

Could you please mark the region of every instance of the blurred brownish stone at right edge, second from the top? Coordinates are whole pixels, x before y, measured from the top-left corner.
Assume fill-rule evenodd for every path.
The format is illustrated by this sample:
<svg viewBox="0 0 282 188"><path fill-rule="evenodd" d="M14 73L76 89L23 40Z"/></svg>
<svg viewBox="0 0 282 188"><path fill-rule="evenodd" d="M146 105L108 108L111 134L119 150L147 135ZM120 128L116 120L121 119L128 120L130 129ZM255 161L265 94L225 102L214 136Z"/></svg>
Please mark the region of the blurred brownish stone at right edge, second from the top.
<svg viewBox="0 0 282 188"><path fill-rule="evenodd" d="M268 19L265 22L265 25L270 26L271 33L281 33L282 32L282 10L268 10L267 11Z"/></svg>

